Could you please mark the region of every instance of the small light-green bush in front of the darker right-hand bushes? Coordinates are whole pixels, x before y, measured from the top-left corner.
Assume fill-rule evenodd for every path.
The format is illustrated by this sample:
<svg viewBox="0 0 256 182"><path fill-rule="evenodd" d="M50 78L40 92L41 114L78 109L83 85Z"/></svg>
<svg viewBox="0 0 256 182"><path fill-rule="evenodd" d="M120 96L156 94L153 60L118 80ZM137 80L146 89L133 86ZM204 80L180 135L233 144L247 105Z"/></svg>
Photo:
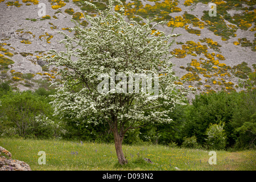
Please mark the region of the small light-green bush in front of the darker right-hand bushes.
<svg viewBox="0 0 256 182"><path fill-rule="evenodd" d="M224 131L224 123L210 124L205 134L207 138L207 147L209 149L224 150L226 147L226 134Z"/></svg>

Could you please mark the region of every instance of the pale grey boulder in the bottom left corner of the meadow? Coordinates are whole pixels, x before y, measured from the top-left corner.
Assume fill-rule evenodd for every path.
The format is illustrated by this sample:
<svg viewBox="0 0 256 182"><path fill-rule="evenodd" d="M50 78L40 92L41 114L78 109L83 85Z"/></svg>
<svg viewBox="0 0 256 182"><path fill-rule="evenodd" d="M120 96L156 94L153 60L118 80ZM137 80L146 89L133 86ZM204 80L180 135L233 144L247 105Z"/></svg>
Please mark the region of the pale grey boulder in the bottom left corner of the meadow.
<svg viewBox="0 0 256 182"><path fill-rule="evenodd" d="M10 159L1 156L1 152L9 156ZM11 153L0 146L0 171L31 171L31 168L23 161L11 159Z"/></svg>

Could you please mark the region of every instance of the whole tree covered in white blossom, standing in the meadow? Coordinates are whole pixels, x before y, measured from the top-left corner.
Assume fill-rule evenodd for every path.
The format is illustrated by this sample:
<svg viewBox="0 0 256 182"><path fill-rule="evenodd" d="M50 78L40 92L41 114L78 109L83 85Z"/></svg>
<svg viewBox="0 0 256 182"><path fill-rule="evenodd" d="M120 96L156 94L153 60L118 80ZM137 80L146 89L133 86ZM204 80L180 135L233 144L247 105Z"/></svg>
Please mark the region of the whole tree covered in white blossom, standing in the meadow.
<svg viewBox="0 0 256 182"><path fill-rule="evenodd" d="M117 2L122 11L122 3ZM125 164L122 140L126 131L150 122L171 122L168 113L176 104L184 104L188 90L174 84L169 49L170 38L177 35L156 30L150 20L143 25L126 20L123 13L112 10L113 5L110 0L108 9L98 16L86 16L87 28L71 28L75 37L60 32L65 36L60 43L67 51L50 50L54 56L45 59L64 67L59 71L63 85L53 95L55 114L69 119L93 115L91 122L96 122L96 116L102 118L113 132L118 162ZM143 78L142 84L136 86L135 80L133 85L139 74L147 75L147 89ZM142 91L136 92L136 88Z"/></svg>

